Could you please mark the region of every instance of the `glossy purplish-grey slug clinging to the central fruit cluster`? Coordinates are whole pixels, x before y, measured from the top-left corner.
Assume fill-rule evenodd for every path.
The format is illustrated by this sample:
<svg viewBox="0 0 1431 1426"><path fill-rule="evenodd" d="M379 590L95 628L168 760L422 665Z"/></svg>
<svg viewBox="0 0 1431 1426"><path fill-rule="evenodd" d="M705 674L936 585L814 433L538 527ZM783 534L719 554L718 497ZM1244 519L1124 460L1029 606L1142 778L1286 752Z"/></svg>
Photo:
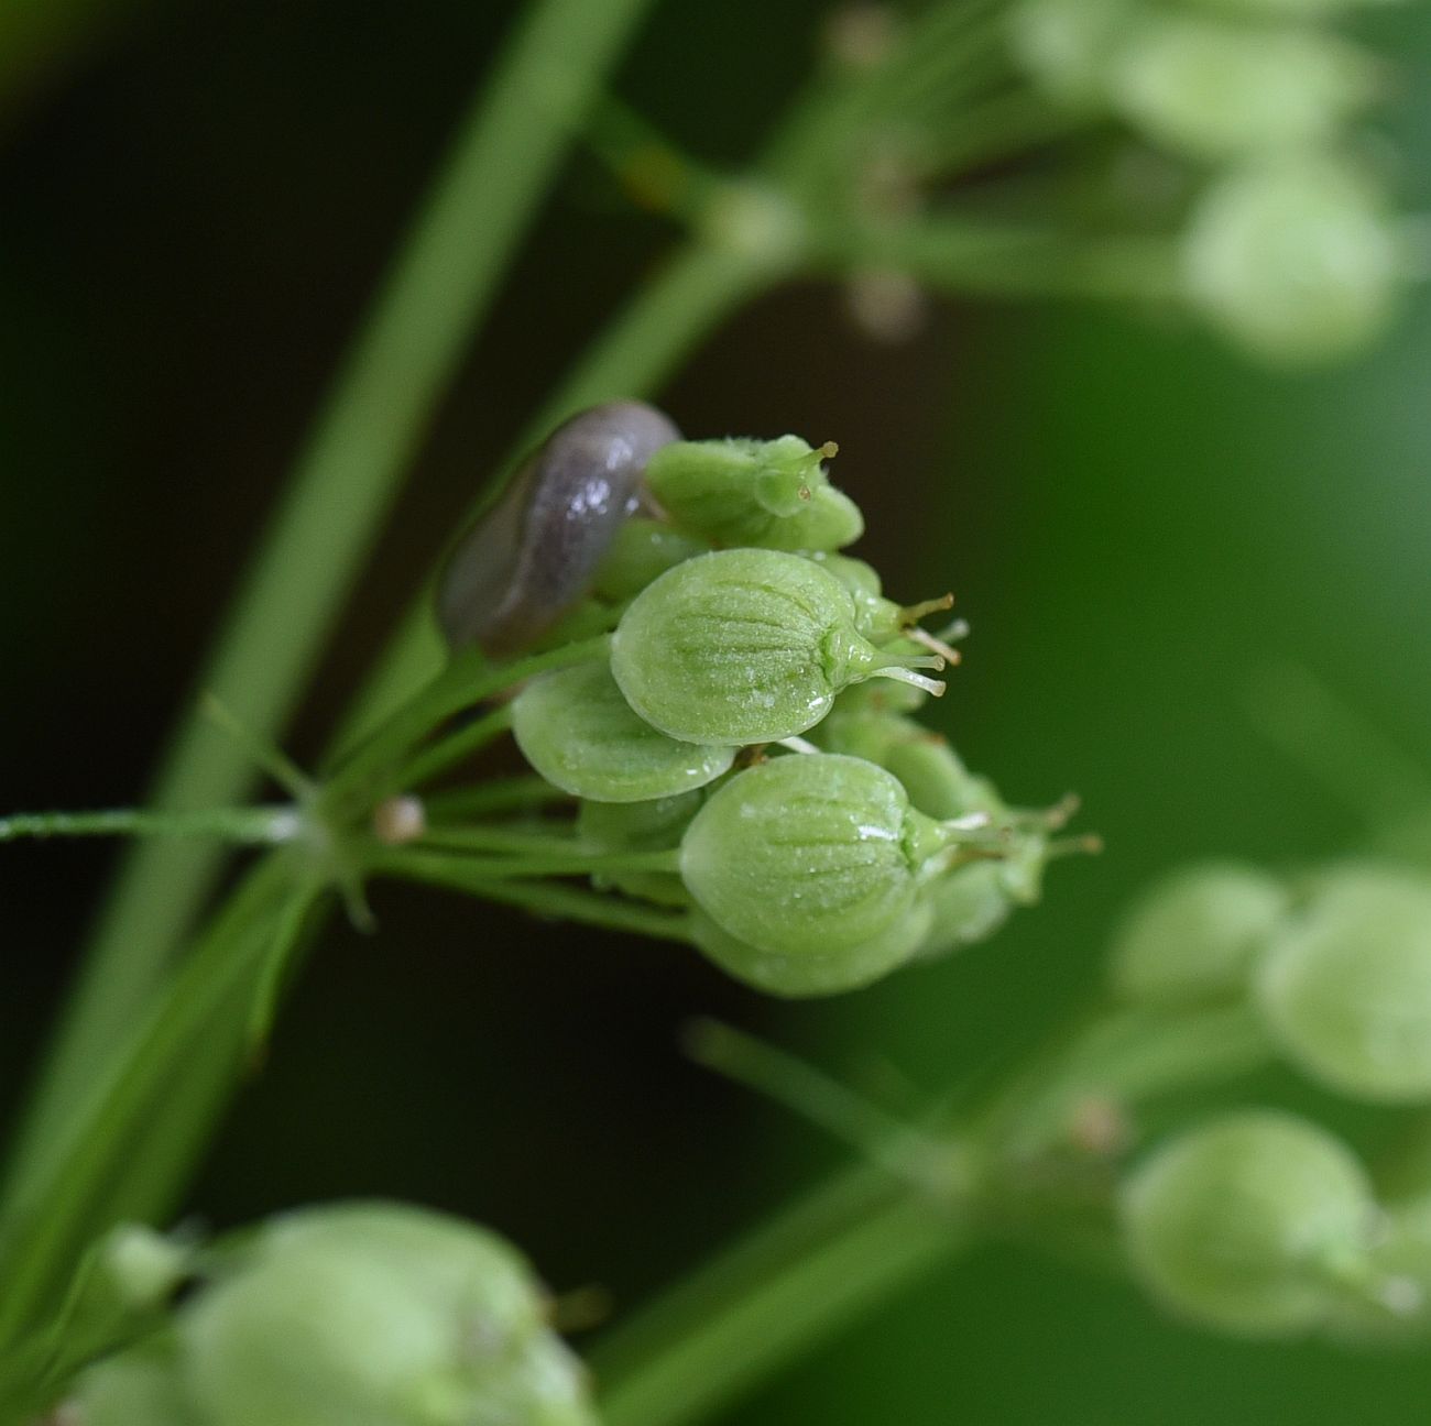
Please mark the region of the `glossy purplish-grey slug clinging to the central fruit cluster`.
<svg viewBox="0 0 1431 1426"><path fill-rule="evenodd" d="M448 558L438 584L448 644L501 657L551 628L637 509L645 462L680 439L670 418L635 400L592 406L558 426Z"/></svg>

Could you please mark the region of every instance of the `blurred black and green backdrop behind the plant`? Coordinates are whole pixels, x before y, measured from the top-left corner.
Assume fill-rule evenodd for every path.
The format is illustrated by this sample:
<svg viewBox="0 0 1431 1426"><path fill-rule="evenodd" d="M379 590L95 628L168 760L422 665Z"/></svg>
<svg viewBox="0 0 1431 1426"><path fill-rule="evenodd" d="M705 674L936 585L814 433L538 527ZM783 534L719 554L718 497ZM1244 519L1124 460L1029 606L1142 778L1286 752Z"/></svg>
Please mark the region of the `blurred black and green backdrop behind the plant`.
<svg viewBox="0 0 1431 1426"><path fill-rule="evenodd" d="M509 4L0 0L0 804L133 801L345 336ZM697 153L750 152L824 7L655 7L621 93ZM1427 14L1378 23L1404 192L1431 186ZM312 757L406 594L545 389L670 240L577 156L445 402L289 747ZM687 1066L718 1014L856 1081L934 1091L1036 1041L1151 875L1362 830L1269 748L1248 689L1318 671L1431 765L1431 302L1315 376L1133 316L942 309L902 346L781 292L663 393L695 435L841 445L892 592L973 621L937 718L1016 800L1069 788L1108 840L995 943L781 1005L675 948L381 890L326 935L193 1213L395 1194L517 1239L620 1304L758 1221L837 1150ZM1341 749L1324 749L1335 759ZM0 1113L114 852L17 845ZM1130 1289L989 1250L797 1367L741 1423L1417 1422L1424 1353L1246 1346Z"/></svg>

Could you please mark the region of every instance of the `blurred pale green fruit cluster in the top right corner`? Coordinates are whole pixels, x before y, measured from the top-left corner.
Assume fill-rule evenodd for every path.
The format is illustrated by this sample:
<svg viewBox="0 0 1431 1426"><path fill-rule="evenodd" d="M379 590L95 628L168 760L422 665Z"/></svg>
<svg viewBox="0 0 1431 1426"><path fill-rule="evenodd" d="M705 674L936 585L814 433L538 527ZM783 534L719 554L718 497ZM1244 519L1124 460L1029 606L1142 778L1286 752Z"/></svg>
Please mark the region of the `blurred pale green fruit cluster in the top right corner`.
<svg viewBox="0 0 1431 1426"><path fill-rule="evenodd" d="M1045 99L1125 123L1188 170L1185 302L1274 362L1385 326L1410 253L1349 124L1381 62L1328 24L1357 0L1020 0L1016 59Z"/></svg>

